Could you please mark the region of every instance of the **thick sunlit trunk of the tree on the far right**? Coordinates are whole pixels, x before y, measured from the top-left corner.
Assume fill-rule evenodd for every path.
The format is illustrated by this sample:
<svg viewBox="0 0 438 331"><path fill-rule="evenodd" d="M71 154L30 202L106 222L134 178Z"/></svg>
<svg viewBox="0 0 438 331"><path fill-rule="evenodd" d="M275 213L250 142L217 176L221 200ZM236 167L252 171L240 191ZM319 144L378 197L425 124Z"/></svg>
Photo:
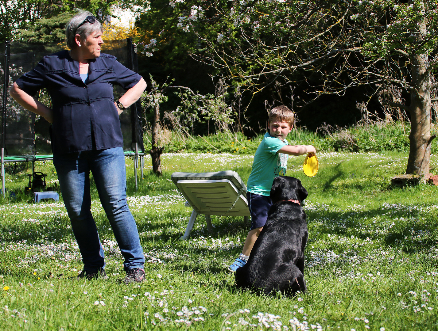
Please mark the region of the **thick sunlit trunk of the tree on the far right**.
<svg viewBox="0 0 438 331"><path fill-rule="evenodd" d="M419 22L419 42L426 34L427 21ZM428 54L415 54L410 58L411 65L411 132L409 135L409 158L406 174L418 174L427 179L431 158L431 73L428 70Z"/></svg>

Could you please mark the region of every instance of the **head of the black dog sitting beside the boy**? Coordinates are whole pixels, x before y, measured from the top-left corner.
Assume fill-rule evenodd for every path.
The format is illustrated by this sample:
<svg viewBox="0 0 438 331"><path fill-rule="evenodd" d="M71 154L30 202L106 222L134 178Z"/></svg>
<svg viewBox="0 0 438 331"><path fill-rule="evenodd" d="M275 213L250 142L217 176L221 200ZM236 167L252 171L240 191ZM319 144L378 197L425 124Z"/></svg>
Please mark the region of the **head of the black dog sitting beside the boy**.
<svg viewBox="0 0 438 331"><path fill-rule="evenodd" d="M272 203L283 200L298 200L300 203L307 198L307 190L301 185L301 181L294 177L279 176L274 178L271 194Z"/></svg>

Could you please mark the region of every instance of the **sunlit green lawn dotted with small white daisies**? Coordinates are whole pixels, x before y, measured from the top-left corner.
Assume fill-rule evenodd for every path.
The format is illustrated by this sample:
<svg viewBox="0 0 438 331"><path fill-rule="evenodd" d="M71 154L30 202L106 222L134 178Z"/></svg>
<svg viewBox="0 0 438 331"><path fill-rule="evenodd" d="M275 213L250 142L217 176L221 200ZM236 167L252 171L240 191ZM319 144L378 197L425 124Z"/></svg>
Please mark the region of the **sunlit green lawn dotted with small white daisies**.
<svg viewBox="0 0 438 331"><path fill-rule="evenodd" d="M226 267L249 225L198 217L180 241L191 210L170 181L173 171L235 170L246 182L253 157L164 154L164 174L150 174L134 191L127 159L128 203L145 253L146 282L123 285L123 259L92 186L92 212L106 254L109 280L72 279L82 268L62 201L33 204L22 193L31 170L7 175L16 199L0 201L1 330L401 330L438 329L437 187L392 188L404 173L401 153L318 153L313 178L290 157L287 175L309 192L308 291L294 297L240 291ZM436 168L432 157L432 168ZM36 171L56 181L51 162ZM62 197L61 197L62 200Z"/></svg>

